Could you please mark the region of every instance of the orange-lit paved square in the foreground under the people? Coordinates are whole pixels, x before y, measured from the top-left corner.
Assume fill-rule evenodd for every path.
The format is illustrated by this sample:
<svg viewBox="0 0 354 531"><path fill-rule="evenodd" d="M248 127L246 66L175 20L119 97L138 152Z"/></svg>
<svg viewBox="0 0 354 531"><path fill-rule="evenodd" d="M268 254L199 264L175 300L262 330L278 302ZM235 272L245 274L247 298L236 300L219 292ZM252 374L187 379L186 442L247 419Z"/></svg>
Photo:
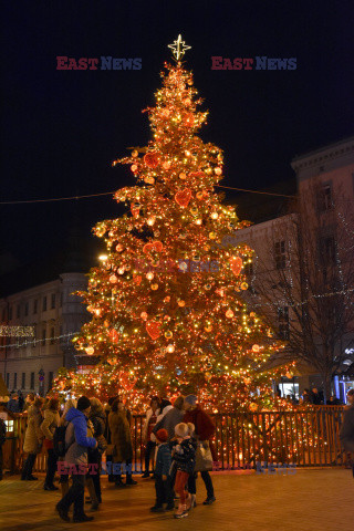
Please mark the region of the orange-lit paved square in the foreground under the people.
<svg viewBox="0 0 354 531"><path fill-rule="evenodd" d="M199 478L197 501L188 518L153 514L154 481L116 489L103 478L103 500L95 520L65 523L54 512L58 492L43 491L43 479L19 477L0 481L1 531L136 530L136 531L337 531L354 528L354 480L351 470L306 469L294 475L252 472L212 473L217 501L201 504L205 487ZM90 506L88 506L90 507ZM88 513L88 511L87 511Z"/></svg>

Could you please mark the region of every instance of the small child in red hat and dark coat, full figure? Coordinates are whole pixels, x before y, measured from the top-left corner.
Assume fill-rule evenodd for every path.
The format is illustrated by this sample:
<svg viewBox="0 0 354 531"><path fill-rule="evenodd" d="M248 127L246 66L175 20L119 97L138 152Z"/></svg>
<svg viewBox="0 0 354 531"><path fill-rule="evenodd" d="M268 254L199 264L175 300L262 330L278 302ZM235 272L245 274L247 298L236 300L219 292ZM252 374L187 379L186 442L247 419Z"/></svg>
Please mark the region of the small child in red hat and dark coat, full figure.
<svg viewBox="0 0 354 531"><path fill-rule="evenodd" d="M173 511L175 509L174 493L169 477L171 465L171 455L168 444L168 433L166 429L158 429L155 434L157 444L157 455L155 465L155 506L150 508L152 512ZM166 503L166 509L164 509Z"/></svg>

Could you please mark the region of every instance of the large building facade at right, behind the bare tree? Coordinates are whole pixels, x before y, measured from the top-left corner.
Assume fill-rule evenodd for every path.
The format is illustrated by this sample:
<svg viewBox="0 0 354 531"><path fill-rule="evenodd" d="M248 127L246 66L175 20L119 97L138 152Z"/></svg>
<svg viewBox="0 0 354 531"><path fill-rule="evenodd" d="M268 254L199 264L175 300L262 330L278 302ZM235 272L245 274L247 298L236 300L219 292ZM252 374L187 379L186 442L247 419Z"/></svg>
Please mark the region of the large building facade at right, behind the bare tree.
<svg viewBox="0 0 354 531"><path fill-rule="evenodd" d="M277 336L303 347L303 319L313 344L332 342L341 361L335 393L344 398L353 385L341 376L354 354L354 137L295 157L298 207L285 216L256 223L235 235L233 243L254 250L246 273L248 303L266 314ZM343 321L345 321L343 323ZM345 325L344 325L345 324ZM332 326L332 329L331 329ZM332 335L329 330L332 330ZM299 356L301 358L301 356ZM323 387L311 364L299 364L296 377L285 381L284 394ZM302 365L302 366L301 366ZM293 391L292 391L293 389Z"/></svg>

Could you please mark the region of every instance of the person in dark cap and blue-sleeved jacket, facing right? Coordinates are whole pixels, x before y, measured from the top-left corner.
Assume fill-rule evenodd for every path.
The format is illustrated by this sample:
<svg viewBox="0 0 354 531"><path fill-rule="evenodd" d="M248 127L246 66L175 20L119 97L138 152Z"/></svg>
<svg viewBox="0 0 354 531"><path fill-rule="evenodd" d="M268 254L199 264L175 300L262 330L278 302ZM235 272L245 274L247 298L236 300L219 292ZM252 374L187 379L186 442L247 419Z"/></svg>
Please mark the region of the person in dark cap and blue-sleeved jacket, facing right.
<svg viewBox="0 0 354 531"><path fill-rule="evenodd" d="M90 522L93 517L84 513L85 475L87 472L87 448L96 448L94 437L87 437L87 417L91 402L86 396L81 396L76 407L66 413L69 421L65 431L65 466L73 469L73 483L66 494L56 503L56 511L62 520L70 522L67 516L70 507L74 506L73 522Z"/></svg>

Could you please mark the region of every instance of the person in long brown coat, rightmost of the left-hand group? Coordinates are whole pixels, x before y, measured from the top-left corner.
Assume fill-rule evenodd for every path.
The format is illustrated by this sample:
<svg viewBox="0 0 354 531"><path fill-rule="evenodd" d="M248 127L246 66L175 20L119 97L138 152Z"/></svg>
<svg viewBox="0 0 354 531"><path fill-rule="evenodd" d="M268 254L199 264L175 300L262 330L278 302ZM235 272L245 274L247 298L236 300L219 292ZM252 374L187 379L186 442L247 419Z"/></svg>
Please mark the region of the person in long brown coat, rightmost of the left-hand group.
<svg viewBox="0 0 354 531"><path fill-rule="evenodd" d="M131 434L131 425L127 419L124 404L115 400L112 404L112 410L108 415L108 424L111 430L111 441L114 445L113 461L122 467L122 462L126 466L126 481L122 481L122 469L115 481L116 487L125 487L126 485L136 485L132 478L132 460L133 460L133 442Z"/></svg>

